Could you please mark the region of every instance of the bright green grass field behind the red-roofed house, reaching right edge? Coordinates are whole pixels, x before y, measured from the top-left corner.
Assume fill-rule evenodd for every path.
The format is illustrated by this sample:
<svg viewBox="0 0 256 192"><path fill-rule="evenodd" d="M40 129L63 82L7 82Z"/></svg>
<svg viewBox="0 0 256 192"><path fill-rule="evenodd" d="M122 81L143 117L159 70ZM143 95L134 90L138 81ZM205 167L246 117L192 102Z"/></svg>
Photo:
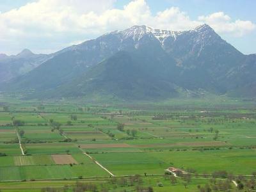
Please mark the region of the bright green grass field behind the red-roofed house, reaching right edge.
<svg viewBox="0 0 256 192"><path fill-rule="evenodd" d="M226 170L229 173L251 175L256 170L256 150L206 150L180 152L151 152L150 156L170 166L198 173L212 173Z"/></svg>

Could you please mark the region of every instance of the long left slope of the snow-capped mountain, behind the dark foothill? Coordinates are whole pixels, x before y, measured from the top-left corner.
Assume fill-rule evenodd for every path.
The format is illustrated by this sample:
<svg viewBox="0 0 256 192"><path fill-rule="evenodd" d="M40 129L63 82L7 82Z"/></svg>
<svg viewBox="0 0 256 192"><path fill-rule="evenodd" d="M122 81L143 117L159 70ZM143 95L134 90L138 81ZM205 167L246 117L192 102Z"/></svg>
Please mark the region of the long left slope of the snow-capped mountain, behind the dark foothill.
<svg viewBox="0 0 256 192"><path fill-rule="evenodd" d="M127 29L128 31L128 29ZM144 33L143 38L134 39L127 31L113 32L102 35L95 40L89 40L80 45L74 45L57 52L44 65L28 74L13 79L11 90L42 90L53 89L63 83L83 74L87 69L100 61L113 56L118 51L132 51L145 45L161 49L161 44L151 33Z"/></svg>

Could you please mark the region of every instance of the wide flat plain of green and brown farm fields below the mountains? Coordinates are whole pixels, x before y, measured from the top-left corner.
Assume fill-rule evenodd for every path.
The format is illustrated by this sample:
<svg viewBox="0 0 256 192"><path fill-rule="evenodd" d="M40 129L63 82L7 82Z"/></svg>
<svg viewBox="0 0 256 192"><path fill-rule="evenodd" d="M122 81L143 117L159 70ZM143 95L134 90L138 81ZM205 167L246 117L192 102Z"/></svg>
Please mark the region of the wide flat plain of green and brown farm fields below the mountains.
<svg viewBox="0 0 256 192"><path fill-rule="evenodd" d="M234 182L253 191L256 104L227 98L122 105L2 99L0 153L1 191L72 191L79 184L97 191L200 191L207 185L220 191L227 183L236 191ZM187 174L174 182L164 174L169 167Z"/></svg>

